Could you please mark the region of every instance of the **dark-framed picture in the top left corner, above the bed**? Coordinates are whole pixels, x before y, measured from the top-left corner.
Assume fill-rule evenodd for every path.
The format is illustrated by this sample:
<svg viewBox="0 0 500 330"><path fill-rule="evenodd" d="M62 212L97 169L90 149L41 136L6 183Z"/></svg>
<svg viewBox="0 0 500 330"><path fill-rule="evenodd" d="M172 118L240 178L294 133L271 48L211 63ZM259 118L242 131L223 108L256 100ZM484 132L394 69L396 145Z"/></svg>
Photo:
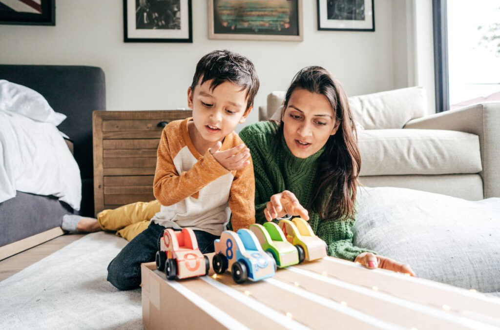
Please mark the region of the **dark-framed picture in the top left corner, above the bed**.
<svg viewBox="0 0 500 330"><path fill-rule="evenodd" d="M55 25L55 0L0 0L0 24Z"/></svg>

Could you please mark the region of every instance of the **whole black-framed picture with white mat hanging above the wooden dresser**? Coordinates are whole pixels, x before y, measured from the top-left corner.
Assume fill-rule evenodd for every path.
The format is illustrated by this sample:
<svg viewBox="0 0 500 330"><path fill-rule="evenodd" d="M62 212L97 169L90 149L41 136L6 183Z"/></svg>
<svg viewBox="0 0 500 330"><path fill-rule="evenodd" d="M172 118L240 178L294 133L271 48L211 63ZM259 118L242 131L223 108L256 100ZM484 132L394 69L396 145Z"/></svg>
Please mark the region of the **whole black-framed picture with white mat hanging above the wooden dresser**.
<svg viewBox="0 0 500 330"><path fill-rule="evenodd" d="M123 0L123 34L124 42L192 42L191 0Z"/></svg>

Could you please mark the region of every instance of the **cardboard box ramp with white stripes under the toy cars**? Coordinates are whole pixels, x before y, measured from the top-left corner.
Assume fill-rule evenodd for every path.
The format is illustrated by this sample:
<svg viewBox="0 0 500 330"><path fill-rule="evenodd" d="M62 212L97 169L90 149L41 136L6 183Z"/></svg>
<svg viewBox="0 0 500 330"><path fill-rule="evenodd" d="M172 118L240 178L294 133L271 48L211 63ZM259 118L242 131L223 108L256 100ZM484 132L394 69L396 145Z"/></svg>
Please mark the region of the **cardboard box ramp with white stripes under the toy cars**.
<svg viewBox="0 0 500 330"><path fill-rule="evenodd" d="M141 271L146 329L500 327L500 298L331 257L244 284L229 271L173 281L154 262Z"/></svg>

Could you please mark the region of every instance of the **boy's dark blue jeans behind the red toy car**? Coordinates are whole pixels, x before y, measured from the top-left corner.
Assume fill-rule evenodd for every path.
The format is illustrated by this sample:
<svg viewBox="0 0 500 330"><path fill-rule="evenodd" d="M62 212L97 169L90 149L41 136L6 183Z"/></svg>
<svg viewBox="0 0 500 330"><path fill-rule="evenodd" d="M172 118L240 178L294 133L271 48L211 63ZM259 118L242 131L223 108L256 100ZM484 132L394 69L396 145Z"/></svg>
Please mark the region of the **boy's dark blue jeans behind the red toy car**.
<svg viewBox="0 0 500 330"><path fill-rule="evenodd" d="M140 234L135 236L109 262L107 280L120 290L131 290L139 287L140 264L154 261L159 241L165 227L151 222ZM201 253L213 252L213 241L219 236L203 230L194 230Z"/></svg>

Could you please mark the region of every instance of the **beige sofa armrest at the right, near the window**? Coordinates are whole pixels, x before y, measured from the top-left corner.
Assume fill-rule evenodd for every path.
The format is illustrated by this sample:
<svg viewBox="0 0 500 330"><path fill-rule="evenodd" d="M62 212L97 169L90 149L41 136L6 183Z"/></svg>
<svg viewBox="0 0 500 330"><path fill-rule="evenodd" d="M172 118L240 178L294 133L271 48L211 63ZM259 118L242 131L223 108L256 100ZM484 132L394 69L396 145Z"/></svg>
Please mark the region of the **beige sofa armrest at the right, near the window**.
<svg viewBox="0 0 500 330"><path fill-rule="evenodd" d="M459 130L479 136L484 198L500 197L500 102L474 104L412 119L404 128Z"/></svg>

